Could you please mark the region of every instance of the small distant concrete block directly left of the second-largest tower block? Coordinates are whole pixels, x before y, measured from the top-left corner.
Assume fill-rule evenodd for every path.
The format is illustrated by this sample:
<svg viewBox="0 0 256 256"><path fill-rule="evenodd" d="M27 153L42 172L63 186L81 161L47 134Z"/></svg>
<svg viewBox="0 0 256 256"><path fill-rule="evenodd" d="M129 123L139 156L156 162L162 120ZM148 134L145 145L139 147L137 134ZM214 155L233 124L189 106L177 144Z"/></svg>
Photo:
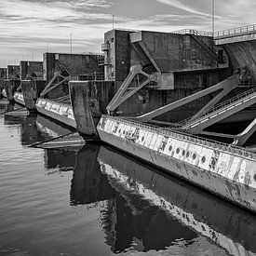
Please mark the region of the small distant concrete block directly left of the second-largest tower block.
<svg viewBox="0 0 256 256"><path fill-rule="evenodd" d="M43 80L43 61L20 61L20 79L24 80L27 75Z"/></svg>

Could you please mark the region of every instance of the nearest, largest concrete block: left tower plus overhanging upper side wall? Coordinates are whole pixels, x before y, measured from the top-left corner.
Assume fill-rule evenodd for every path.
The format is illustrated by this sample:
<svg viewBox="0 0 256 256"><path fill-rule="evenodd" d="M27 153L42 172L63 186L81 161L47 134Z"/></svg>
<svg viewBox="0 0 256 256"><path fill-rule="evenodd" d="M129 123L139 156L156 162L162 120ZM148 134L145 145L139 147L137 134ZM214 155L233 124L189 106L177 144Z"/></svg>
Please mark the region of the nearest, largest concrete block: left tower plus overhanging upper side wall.
<svg viewBox="0 0 256 256"><path fill-rule="evenodd" d="M214 46L210 36L199 36L199 39L209 48ZM145 60L141 59L145 58L140 57L138 49L133 47L133 44L139 42L147 48L161 72L187 72L221 67L209 58L189 34L112 30L104 34L104 44L107 46L106 80L122 82L128 76L130 66L149 64L143 63ZM228 60L225 61L226 64L222 67L228 68Z"/></svg>

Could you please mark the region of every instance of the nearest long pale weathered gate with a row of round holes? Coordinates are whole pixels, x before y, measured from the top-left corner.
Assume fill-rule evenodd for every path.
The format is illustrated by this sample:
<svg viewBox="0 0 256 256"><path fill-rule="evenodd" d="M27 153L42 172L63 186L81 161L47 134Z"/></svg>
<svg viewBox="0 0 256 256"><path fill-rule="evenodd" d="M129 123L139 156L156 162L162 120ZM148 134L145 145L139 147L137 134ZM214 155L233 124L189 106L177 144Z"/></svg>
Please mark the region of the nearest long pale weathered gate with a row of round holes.
<svg viewBox="0 0 256 256"><path fill-rule="evenodd" d="M101 141L256 212L256 156L227 144L102 115Z"/></svg>

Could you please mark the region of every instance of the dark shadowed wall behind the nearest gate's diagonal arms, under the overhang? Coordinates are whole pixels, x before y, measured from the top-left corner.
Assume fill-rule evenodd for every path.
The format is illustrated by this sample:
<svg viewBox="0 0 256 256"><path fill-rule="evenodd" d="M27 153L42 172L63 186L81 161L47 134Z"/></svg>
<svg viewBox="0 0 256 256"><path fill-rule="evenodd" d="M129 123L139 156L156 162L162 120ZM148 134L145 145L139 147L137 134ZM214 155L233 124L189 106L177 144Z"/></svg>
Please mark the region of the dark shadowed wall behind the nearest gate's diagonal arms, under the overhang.
<svg viewBox="0 0 256 256"><path fill-rule="evenodd" d="M175 73L175 88L173 90L157 90L143 88L128 101L118 107L121 114L141 115L162 107L170 102L178 101L204 88L209 88L226 77L232 75L230 69L212 70L209 72L182 72ZM195 115L195 113L212 99L212 96L192 101L167 115L159 116L160 120L177 122Z"/></svg>

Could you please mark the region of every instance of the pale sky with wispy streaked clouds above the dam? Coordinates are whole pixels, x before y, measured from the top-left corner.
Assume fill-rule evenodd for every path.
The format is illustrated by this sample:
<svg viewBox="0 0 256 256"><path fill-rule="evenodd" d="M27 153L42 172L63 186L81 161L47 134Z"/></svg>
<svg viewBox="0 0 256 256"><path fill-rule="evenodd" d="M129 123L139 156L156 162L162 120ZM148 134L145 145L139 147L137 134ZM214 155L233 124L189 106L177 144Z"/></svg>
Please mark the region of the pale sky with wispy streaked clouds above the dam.
<svg viewBox="0 0 256 256"><path fill-rule="evenodd" d="M255 0L0 0L0 66L44 52L100 52L113 28L215 31L255 24ZM113 19L114 18L114 19ZM114 22L113 22L114 20ZM71 40L72 38L72 40Z"/></svg>

